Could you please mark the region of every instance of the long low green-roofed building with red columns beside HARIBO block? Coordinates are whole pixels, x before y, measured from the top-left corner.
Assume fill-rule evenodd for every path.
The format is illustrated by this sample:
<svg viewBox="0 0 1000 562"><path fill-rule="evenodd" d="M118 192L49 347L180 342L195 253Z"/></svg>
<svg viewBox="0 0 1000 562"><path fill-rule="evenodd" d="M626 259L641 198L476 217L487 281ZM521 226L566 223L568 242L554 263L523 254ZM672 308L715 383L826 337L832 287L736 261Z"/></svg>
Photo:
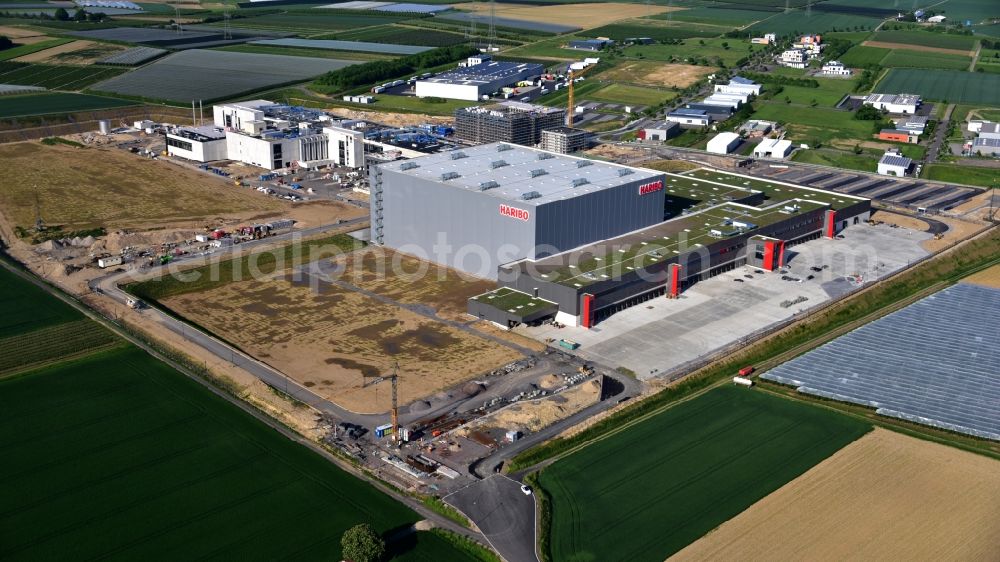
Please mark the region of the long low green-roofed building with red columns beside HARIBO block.
<svg viewBox="0 0 1000 562"><path fill-rule="evenodd" d="M748 186L749 184L749 186ZM743 265L777 271L788 247L868 219L868 199L716 170L666 174L676 218L568 252L500 267L501 287L469 314L504 328L553 318L590 328L625 308L676 297Z"/></svg>

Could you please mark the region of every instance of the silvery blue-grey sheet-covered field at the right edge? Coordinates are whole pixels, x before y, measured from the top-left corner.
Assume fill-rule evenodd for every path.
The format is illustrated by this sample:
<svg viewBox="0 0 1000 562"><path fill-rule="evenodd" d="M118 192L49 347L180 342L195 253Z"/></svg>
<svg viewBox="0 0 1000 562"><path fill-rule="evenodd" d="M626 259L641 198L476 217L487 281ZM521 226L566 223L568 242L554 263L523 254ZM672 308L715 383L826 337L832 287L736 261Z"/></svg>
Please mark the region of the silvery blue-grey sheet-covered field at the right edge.
<svg viewBox="0 0 1000 562"><path fill-rule="evenodd" d="M1000 289L958 284L768 371L800 392L1000 440Z"/></svg>

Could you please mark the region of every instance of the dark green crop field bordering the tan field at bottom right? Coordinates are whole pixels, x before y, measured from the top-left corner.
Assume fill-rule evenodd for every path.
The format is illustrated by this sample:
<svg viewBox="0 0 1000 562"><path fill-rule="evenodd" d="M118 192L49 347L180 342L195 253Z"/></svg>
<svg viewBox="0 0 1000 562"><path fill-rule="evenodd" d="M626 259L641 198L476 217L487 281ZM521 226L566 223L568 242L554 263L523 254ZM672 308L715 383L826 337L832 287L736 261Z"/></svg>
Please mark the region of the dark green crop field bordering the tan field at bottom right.
<svg viewBox="0 0 1000 562"><path fill-rule="evenodd" d="M552 559L660 562L870 429L755 390L712 390L541 472Z"/></svg>

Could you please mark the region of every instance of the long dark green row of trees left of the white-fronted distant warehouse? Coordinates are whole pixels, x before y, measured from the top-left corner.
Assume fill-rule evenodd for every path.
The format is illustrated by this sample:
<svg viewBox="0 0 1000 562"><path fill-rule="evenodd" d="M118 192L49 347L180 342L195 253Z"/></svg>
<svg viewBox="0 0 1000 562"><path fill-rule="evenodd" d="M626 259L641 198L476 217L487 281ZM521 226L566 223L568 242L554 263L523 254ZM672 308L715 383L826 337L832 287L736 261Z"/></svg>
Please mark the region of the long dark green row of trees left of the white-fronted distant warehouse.
<svg viewBox="0 0 1000 562"><path fill-rule="evenodd" d="M441 47L399 59L371 61L327 72L316 79L316 84L331 91L349 90L452 63L478 53L479 49L468 45Z"/></svg>

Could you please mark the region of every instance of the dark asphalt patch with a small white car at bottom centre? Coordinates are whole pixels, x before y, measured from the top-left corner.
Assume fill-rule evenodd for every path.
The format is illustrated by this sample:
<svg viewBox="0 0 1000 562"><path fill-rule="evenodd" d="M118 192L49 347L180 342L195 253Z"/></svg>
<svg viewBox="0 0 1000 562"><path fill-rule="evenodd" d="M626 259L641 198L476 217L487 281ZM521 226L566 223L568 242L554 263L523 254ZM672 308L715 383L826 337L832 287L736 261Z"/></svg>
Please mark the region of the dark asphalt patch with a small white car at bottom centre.
<svg viewBox="0 0 1000 562"><path fill-rule="evenodd" d="M535 496L521 483L497 474L445 496L476 522L507 562L538 562L535 554Z"/></svg>

